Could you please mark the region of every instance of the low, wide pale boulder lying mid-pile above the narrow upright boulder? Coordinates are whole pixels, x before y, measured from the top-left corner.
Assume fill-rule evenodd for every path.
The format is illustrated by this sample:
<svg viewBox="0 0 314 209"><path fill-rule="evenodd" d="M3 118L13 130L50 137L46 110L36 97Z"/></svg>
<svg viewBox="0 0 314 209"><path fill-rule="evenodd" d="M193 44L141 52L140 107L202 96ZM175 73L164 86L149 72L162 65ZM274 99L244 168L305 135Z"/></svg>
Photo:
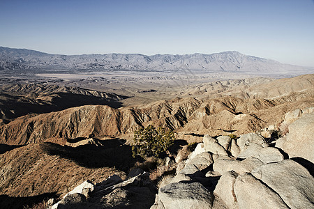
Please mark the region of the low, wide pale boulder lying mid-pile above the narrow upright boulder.
<svg viewBox="0 0 314 209"><path fill-rule="evenodd" d="M213 164L214 171L225 174L227 171L235 171L239 174L248 173L260 167L263 164L262 161L257 158L246 158L245 160L233 160L227 157L218 157Z"/></svg>

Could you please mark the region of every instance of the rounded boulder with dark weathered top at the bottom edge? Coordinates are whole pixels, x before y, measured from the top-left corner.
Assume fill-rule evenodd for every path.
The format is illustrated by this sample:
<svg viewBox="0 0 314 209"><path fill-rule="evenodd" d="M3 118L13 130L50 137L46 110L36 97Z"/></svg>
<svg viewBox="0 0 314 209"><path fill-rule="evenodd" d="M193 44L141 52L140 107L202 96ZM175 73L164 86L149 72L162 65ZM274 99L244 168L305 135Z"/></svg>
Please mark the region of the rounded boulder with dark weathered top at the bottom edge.
<svg viewBox="0 0 314 209"><path fill-rule="evenodd" d="M214 196L198 182L184 181L161 187L158 198L164 208L211 208Z"/></svg>

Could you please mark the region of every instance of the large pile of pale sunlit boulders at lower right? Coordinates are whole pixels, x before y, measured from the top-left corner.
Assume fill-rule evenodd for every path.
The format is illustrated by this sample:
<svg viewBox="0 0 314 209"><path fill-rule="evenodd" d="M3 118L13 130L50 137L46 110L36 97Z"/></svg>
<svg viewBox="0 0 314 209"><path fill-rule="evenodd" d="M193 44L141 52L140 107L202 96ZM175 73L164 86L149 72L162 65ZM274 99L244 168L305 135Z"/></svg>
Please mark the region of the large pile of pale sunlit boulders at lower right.
<svg viewBox="0 0 314 209"><path fill-rule="evenodd" d="M160 183L151 208L314 208L308 168L285 159L260 135L244 134L232 139L233 145L227 137L205 135L203 140L181 162L184 169ZM237 159L232 146L238 148Z"/></svg>

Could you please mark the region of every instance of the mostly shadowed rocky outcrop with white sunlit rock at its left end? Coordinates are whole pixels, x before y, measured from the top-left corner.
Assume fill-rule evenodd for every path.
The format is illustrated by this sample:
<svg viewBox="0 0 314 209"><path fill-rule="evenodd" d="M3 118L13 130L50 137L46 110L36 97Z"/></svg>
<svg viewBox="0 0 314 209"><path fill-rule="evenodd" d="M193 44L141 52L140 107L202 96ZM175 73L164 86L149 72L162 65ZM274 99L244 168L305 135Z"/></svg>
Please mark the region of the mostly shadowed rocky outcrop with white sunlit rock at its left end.
<svg viewBox="0 0 314 209"><path fill-rule="evenodd" d="M154 185L149 173L128 180L111 176L96 185L84 182L63 196L50 209L56 208L149 208L154 203Z"/></svg>

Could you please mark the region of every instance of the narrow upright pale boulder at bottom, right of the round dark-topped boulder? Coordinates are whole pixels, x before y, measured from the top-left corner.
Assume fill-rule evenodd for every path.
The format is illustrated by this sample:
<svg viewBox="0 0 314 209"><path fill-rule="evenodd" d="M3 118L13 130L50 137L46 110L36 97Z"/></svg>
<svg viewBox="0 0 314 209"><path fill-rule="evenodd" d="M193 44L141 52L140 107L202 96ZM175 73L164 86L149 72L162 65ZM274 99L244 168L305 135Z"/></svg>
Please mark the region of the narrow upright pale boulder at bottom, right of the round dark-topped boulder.
<svg viewBox="0 0 314 209"><path fill-rule="evenodd" d="M234 171L227 171L218 180L218 184L214 190L214 194L220 197L228 208L236 208L237 199L234 196L234 183L238 174Z"/></svg>

